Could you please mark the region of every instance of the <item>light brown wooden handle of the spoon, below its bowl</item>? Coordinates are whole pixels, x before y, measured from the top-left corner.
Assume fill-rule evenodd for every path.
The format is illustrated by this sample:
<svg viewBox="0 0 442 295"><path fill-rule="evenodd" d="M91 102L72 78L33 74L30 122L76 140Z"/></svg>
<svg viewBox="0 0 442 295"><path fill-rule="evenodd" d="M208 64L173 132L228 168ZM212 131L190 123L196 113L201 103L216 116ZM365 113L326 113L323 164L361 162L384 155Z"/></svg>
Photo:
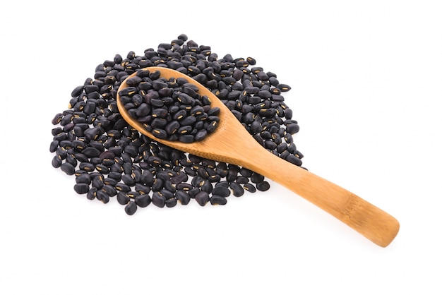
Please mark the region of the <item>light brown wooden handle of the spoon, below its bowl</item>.
<svg viewBox="0 0 442 295"><path fill-rule="evenodd" d="M289 188L378 246L388 246L398 234L398 220L335 183L266 150L249 150L248 159L247 163L243 163L244 167L248 166L247 168Z"/></svg>

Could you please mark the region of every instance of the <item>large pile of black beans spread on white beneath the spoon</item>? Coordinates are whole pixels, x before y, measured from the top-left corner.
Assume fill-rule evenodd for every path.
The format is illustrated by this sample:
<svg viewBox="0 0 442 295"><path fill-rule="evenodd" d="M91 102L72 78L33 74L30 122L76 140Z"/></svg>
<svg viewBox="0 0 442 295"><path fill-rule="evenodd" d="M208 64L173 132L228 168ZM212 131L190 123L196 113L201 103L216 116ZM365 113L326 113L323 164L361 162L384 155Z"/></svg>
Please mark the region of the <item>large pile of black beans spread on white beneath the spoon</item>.
<svg viewBox="0 0 442 295"><path fill-rule="evenodd" d="M303 156L292 138L299 126L282 96L290 87L255 65L251 57L219 58L184 34L143 55L117 54L98 64L93 78L71 92L68 109L52 119L52 166L75 176L74 190L89 200L108 203L116 196L128 215L150 203L174 207L195 199L201 206L225 205L229 195L267 191L268 181L249 169L189 155L144 136L126 123L116 101L119 85L132 73L150 66L172 68L217 95L269 152L301 167Z"/></svg>

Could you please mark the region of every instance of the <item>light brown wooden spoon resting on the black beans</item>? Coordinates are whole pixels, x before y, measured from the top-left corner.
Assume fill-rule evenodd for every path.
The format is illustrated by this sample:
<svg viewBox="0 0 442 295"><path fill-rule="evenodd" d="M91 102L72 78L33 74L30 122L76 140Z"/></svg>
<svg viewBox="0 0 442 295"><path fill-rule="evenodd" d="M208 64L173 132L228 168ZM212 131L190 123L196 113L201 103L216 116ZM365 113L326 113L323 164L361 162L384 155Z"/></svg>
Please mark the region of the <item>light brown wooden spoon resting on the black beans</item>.
<svg viewBox="0 0 442 295"><path fill-rule="evenodd" d="M379 246L388 246L398 234L399 222L388 213L335 183L316 176L265 150L239 123L225 104L196 80L170 68L149 67L145 70L151 73L160 71L160 76L166 79L186 78L189 83L198 86L200 95L207 95L210 98L212 107L220 107L221 109L220 122L213 133L199 142L181 143L155 138L145 130L143 124L129 116L118 95L119 112L133 128L145 136L177 150L218 162L237 164L268 177L268 179L282 184L297 195L321 207ZM134 75L136 73L133 73L129 78ZM119 86L119 90L126 87L125 80Z"/></svg>

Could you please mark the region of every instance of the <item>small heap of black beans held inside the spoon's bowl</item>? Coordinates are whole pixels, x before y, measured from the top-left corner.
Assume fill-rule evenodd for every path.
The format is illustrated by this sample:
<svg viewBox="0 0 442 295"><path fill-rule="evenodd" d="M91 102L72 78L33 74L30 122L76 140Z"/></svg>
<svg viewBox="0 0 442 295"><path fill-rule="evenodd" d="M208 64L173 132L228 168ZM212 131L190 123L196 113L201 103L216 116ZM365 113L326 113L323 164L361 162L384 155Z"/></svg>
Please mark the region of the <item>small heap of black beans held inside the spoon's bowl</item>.
<svg viewBox="0 0 442 295"><path fill-rule="evenodd" d="M193 143L215 131L220 108L185 78L160 78L160 71L137 71L119 91L124 108L156 138Z"/></svg>

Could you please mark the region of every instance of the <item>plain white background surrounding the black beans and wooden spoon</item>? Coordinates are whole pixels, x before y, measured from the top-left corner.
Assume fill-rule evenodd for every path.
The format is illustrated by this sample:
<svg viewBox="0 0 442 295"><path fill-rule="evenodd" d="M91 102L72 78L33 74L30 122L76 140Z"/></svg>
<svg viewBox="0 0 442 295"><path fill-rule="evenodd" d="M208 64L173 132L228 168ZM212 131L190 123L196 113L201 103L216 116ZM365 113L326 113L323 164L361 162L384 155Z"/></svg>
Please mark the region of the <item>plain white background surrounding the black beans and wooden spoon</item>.
<svg viewBox="0 0 442 295"><path fill-rule="evenodd" d="M441 294L440 1L2 1L0 294ZM51 166L115 54L185 33L292 86L304 166L396 217L381 248L298 195L129 217Z"/></svg>

